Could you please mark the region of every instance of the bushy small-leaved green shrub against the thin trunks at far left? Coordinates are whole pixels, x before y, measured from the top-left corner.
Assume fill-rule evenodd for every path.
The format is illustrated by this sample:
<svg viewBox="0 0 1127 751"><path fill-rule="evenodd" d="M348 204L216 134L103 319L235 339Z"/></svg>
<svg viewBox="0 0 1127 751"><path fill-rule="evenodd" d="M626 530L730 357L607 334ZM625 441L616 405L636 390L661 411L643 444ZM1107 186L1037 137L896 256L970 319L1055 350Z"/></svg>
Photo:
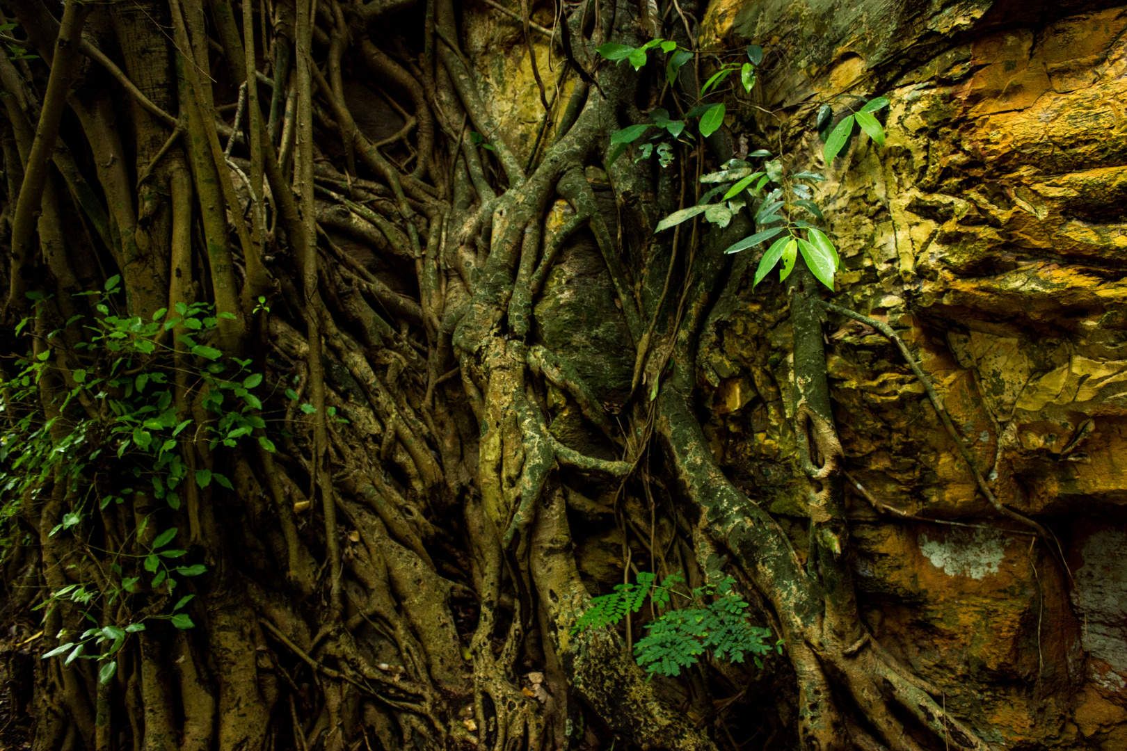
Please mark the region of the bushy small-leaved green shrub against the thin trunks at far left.
<svg viewBox="0 0 1127 751"><path fill-rule="evenodd" d="M92 522L107 507L149 497L167 508L157 507L140 521L132 539L104 551L108 570L100 581L52 589L35 607L44 610L44 619L61 602L82 609L94 625L80 634L60 632L56 636L64 643L43 656L65 653L64 665L97 660L103 683L116 670L114 654L147 623L168 620L179 629L195 626L185 611L195 594L174 599L174 592L206 573L207 566L186 561L193 540L176 526L154 536L150 530L159 519L181 510L183 495L189 522L198 525L199 493L212 483L228 490L233 485L222 473L197 467L185 452L196 444L208 450L234 448L245 439L275 450L265 435L263 402L255 394L263 374L250 370L251 359L227 355L210 343L220 319L230 314L212 315L210 304L178 302L174 311L158 310L148 321L123 316L115 304L119 285L121 277L114 276L103 290L79 293L78 297L97 297L92 305L97 314L76 315L63 329L47 333L41 351L28 352L23 368L0 382L5 419L0 498L6 522L21 504L62 488L68 508L47 537L65 535L80 548L104 547L108 540L104 534L92 536ZM52 302L38 292L27 297L33 315L17 324L17 332ZM184 333L174 340L177 331ZM177 368L185 359L181 354L189 358L187 373ZM55 399L53 417L35 408L48 367L65 373L69 385ZM202 419L186 405L190 394L197 395ZM180 544L172 545L174 540Z"/></svg>

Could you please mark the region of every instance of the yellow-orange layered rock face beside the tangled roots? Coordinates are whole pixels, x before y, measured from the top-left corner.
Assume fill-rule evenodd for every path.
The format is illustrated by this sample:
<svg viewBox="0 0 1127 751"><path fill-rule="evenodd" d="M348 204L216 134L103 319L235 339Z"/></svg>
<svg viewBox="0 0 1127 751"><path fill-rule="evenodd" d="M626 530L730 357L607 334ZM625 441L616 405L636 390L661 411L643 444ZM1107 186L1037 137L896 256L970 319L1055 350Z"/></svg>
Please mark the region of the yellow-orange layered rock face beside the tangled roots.
<svg viewBox="0 0 1127 751"><path fill-rule="evenodd" d="M1125 33L1121 6L982 0L717 0L701 32L767 51L755 104L782 119L748 106L733 132L782 128L791 167L831 177L835 302L902 332L994 493L1056 535L999 518L898 351L829 322L854 482L961 525L855 493L866 619L995 748L1127 748ZM887 143L859 135L827 167L814 113L843 117L848 95L891 99ZM744 286L701 343L713 445L798 517L782 294Z"/></svg>

